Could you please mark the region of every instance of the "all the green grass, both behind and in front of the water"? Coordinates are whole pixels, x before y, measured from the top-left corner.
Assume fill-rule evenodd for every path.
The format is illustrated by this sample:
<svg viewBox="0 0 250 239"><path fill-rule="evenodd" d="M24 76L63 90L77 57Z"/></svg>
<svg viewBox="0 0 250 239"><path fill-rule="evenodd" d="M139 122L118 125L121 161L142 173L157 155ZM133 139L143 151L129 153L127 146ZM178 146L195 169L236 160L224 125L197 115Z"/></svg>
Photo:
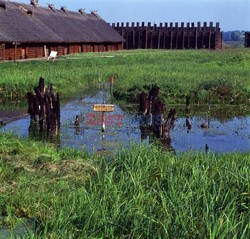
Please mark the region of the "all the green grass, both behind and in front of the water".
<svg viewBox="0 0 250 239"><path fill-rule="evenodd" d="M209 92L214 103L246 103L249 53L138 50L1 63L0 100L24 98L40 76L66 98L115 74L118 100L158 84L167 103L186 95L203 103ZM175 156L156 145L90 156L0 134L0 228L35 217L30 238L248 238L249 164L249 154Z"/></svg>

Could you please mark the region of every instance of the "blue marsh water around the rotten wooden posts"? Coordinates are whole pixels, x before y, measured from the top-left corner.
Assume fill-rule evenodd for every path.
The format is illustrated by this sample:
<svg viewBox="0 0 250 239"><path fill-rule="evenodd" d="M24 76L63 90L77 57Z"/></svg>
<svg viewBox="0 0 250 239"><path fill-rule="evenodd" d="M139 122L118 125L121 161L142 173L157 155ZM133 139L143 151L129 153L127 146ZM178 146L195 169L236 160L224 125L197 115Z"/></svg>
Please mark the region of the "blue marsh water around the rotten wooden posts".
<svg viewBox="0 0 250 239"><path fill-rule="evenodd" d="M131 144L152 143L152 137L141 127L136 105L119 106L114 103L114 112L106 113L109 120L106 122L106 132L102 133L99 114L93 115L93 105L103 102L112 103L108 87L93 88L78 99L64 103L61 107L60 134L53 139L29 130L29 116L13 120L1 131L13 132L23 138L49 140L62 148L72 147L100 154L128 148ZM171 135L171 145L167 149L175 152L205 151L205 148L218 153L250 151L250 115L245 114L244 110L239 111L238 107L231 106L212 106L208 115L207 106L191 105L189 120L192 128L189 130L183 113L185 106L172 107L177 109L177 120ZM76 115L80 116L80 127L74 126ZM202 123L209 125L209 128L201 128Z"/></svg>

